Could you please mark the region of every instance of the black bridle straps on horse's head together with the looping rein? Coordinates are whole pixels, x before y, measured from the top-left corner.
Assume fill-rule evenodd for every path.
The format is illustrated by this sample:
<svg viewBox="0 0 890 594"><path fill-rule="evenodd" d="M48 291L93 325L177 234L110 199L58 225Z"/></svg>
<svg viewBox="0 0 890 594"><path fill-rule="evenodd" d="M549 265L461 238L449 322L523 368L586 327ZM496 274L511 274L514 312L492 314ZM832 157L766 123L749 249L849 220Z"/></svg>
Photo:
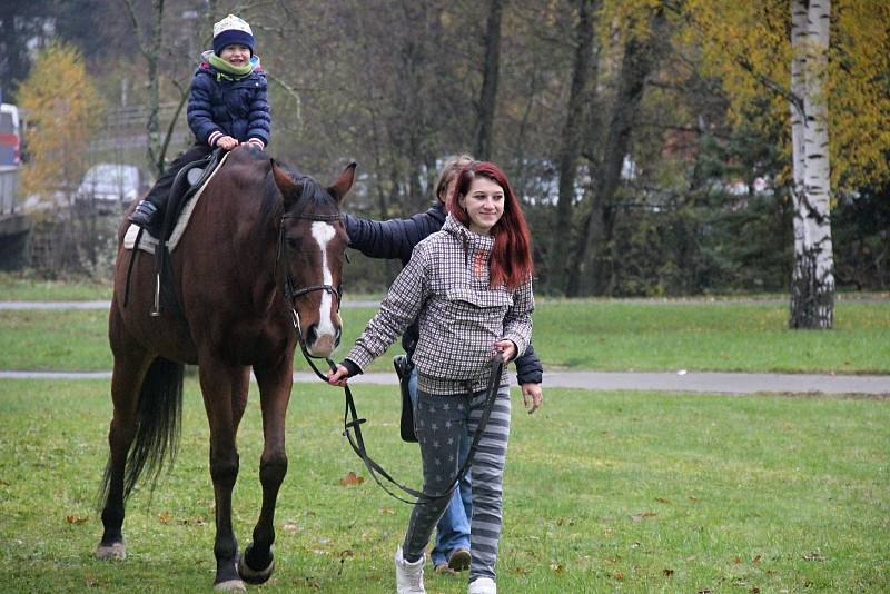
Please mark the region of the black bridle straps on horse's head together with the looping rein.
<svg viewBox="0 0 890 594"><path fill-rule="evenodd" d="M340 307L340 297L342 290L339 287L334 287L333 285L312 285L308 287L301 287L299 289L294 288L294 279L290 276L290 268L287 266L287 246L285 242L285 231L284 231L284 222L288 218L299 218L299 219L308 219L308 220L320 220L320 221L336 221L342 220L342 216L337 215L312 215L312 214L285 214L281 216L281 224L279 226L278 231L278 255L275 259L275 266L278 267L278 261L284 260L285 266L285 281L284 281L284 294L285 298L287 299L288 305L290 306L290 320L294 325L294 330L297 334L297 341L299 343L299 348L303 352L303 357L306 359L306 363L309 364L315 375L318 378L327 384L327 376L322 373L322 370L316 366L313 359L325 359L328 367L332 372L337 370L337 364L330 357L316 357L315 355L309 354L309 349L306 346L306 340L303 338L303 328L300 327L299 323L299 314L297 313L296 308L294 307L294 298L299 297L301 295L306 295L312 291L316 290L326 290L332 295L337 297L337 310L339 311ZM383 488L389 496L396 498L403 503L407 503L411 505L419 505L424 503L431 503L437 499L442 499L445 497L451 497L454 489L461 483L461 479L466 476L466 473L469 472L469 467L473 464L473 458L475 457L476 451L478 449L479 439L482 438L482 433L485 426L488 423L488 417L492 415L492 409L494 408L494 402L497 397L497 388L501 384L501 375L504 368L504 359L503 354L496 353L492 360L492 373L488 376L488 384L485 390L485 407L482 412L482 417L479 418L478 427L473 436L473 442L469 445L469 452L467 453L466 459L464 464L457 469L457 473L454 477L448 482L448 486L442 493L431 494L425 493L423 491L417 491L411 488L408 486L403 485L393 476L386 472L386 469L377 464L367 453L367 448L365 446L365 439L362 435L362 424L367 423L366 418L359 418L358 413L355 408L355 398L353 398L353 390L349 389L349 385L347 384L344 386L346 406L343 413L343 435L349 442L349 446L353 448L353 452L362 458L362 462L365 463L365 467L368 469L368 473L374 478L374 481ZM392 485L392 488L386 483ZM414 501L406 499L400 496L396 489L415 497Z"/></svg>

